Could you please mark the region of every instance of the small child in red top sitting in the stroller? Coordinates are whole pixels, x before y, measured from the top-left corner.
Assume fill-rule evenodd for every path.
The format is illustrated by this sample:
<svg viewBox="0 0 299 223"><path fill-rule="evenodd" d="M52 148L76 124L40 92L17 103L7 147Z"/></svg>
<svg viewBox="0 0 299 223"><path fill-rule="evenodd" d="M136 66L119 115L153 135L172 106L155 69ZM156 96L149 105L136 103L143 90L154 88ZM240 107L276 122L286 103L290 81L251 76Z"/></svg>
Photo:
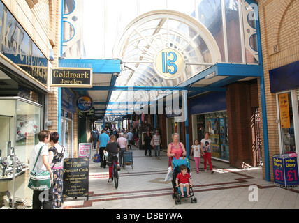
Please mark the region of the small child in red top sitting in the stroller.
<svg viewBox="0 0 299 223"><path fill-rule="evenodd" d="M177 178L175 180L177 188L180 186L181 197L184 197L184 187L186 187L187 197L191 197L189 194L189 189L192 187L192 180L190 174L188 173L188 167L182 164L180 165L180 171L180 174L177 174Z"/></svg>

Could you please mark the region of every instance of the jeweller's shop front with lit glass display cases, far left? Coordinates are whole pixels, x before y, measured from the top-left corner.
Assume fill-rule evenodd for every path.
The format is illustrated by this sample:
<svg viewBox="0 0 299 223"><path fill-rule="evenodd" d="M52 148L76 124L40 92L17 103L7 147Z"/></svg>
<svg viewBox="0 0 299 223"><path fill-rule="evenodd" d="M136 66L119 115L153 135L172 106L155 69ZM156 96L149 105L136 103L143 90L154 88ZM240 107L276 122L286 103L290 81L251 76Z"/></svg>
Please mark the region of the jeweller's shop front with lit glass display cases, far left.
<svg viewBox="0 0 299 223"><path fill-rule="evenodd" d="M50 62L1 1L0 39L1 207L31 197L25 176L38 132L46 128Z"/></svg>

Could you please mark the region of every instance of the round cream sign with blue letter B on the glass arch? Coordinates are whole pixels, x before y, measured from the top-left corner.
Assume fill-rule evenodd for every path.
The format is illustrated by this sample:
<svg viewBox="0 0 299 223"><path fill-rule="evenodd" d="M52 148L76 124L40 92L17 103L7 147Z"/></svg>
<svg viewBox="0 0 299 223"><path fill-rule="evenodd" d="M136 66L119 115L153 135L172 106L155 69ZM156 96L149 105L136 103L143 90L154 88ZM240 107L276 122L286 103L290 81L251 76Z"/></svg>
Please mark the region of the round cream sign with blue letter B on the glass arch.
<svg viewBox="0 0 299 223"><path fill-rule="evenodd" d="M163 79L180 77L185 66L184 57L175 49L163 49L155 56L154 70Z"/></svg>

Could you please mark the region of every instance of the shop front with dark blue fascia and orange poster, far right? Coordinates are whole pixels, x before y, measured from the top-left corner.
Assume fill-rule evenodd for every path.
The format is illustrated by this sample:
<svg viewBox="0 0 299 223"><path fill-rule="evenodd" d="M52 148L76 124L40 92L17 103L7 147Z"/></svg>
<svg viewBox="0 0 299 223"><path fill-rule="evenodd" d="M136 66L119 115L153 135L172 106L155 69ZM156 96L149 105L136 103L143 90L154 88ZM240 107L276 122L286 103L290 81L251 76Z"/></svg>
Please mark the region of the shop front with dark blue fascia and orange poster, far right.
<svg viewBox="0 0 299 223"><path fill-rule="evenodd" d="M271 93L276 94L277 100L280 154L298 153L299 61L275 68L269 73Z"/></svg>

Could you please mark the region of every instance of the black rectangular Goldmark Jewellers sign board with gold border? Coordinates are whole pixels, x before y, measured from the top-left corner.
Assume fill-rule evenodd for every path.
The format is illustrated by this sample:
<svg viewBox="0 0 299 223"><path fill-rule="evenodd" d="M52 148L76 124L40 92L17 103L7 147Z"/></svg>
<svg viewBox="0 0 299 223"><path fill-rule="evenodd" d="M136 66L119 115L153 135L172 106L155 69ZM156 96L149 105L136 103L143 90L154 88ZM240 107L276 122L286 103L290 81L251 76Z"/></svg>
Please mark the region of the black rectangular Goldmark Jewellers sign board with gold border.
<svg viewBox="0 0 299 223"><path fill-rule="evenodd" d="M53 68L51 86L92 88L92 68Z"/></svg>

